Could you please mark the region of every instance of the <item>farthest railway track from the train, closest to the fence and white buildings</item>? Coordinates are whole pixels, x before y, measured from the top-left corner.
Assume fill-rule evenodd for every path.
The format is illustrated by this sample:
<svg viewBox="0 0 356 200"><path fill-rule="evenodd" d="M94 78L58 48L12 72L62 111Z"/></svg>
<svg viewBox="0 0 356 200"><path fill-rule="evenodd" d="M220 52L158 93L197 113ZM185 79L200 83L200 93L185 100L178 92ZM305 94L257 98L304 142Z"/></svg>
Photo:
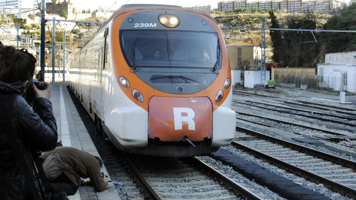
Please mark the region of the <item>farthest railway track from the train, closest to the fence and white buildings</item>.
<svg viewBox="0 0 356 200"><path fill-rule="evenodd" d="M253 94L253 93L236 91L236 90L232 91L232 94L255 96L255 97L260 97L260 98L264 98L264 99L280 101L280 102L295 105L295 106L303 106L303 107L313 108L313 109L317 109L317 110L324 110L324 111L333 110L336 113L350 115L350 116L356 116L356 109L350 109L350 108L345 108L345 107L324 105L324 104L318 104L318 103L314 103L314 102L307 102L307 101L300 101L300 100L292 100L292 101L298 102L298 103L295 103L295 102L290 102L291 100L287 100L287 101L282 100L282 98L279 98L279 97L273 97L273 96L267 96L267 95L261 95L261 94ZM350 111L350 112L346 112L346 111Z"/></svg>

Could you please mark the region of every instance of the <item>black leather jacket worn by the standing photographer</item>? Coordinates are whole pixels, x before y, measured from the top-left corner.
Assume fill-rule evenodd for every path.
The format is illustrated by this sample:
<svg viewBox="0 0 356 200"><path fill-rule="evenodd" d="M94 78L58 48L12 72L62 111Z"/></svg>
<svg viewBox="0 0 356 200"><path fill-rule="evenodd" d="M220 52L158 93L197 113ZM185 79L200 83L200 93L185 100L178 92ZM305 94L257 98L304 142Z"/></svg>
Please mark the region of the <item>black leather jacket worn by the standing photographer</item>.
<svg viewBox="0 0 356 200"><path fill-rule="evenodd" d="M56 147L57 125L49 100L38 98L33 109L21 94L22 86L14 86L0 81L0 115L7 116L6 107L10 110L12 132L0 123L0 196L1 199L32 199L27 190L25 179L11 151L6 134L15 134L20 151L26 160L27 167L32 169L30 148L36 151L49 151ZM6 107L5 107L6 106ZM26 159L27 158L27 159ZM38 187L37 181L34 184Z"/></svg>

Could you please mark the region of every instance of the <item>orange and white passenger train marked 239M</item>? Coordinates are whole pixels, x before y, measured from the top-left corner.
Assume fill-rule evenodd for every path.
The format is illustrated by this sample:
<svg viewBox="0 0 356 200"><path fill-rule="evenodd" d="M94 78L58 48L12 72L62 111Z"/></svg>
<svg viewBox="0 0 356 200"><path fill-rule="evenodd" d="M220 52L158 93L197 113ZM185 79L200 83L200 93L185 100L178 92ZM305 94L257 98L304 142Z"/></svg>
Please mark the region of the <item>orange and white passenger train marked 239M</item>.
<svg viewBox="0 0 356 200"><path fill-rule="evenodd" d="M122 5L68 70L97 132L123 152L190 157L235 137L226 44L206 12Z"/></svg>

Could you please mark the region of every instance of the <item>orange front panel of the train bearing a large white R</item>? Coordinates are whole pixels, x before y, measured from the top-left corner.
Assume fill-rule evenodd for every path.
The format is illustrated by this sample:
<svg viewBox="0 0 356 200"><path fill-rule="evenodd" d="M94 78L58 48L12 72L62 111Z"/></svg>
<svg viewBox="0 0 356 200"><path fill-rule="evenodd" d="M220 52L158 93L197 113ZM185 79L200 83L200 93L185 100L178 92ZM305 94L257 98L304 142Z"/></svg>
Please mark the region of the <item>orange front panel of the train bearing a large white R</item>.
<svg viewBox="0 0 356 200"><path fill-rule="evenodd" d="M190 141L211 138L213 107L207 97L153 96L148 103L148 137L160 141Z"/></svg>

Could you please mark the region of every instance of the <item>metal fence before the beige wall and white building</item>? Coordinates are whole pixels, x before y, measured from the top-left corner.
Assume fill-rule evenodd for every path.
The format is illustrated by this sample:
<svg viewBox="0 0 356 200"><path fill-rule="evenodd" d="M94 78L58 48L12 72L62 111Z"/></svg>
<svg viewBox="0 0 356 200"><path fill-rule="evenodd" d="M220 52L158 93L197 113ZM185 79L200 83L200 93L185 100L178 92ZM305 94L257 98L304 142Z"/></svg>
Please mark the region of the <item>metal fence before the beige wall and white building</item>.
<svg viewBox="0 0 356 200"><path fill-rule="evenodd" d="M321 75L303 71L276 71L274 81L277 86L323 90L328 92L347 91L347 74L345 72L323 73Z"/></svg>

